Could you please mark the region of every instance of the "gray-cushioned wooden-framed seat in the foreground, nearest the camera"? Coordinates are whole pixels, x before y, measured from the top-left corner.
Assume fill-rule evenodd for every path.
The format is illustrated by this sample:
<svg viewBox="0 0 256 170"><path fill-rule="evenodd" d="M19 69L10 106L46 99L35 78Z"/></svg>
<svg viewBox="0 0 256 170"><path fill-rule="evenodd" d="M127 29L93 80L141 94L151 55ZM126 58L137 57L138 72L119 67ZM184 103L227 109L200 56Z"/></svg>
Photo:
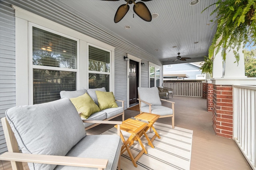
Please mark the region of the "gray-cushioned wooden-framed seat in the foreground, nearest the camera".
<svg viewBox="0 0 256 170"><path fill-rule="evenodd" d="M12 169L23 170L22 162L34 162L28 163L30 170L116 170L117 165L120 169L120 136L86 135L67 98L12 107L1 121L8 152L0 160L10 160ZM102 122L118 124L120 134L122 122Z"/></svg>

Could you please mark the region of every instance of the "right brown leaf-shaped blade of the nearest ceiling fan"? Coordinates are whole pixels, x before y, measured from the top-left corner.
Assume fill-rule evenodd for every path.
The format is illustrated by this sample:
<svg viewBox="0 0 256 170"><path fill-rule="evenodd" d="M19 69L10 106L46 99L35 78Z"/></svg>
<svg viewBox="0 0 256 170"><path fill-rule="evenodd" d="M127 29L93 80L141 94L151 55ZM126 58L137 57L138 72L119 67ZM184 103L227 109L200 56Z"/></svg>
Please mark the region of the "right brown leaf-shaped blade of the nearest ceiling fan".
<svg viewBox="0 0 256 170"><path fill-rule="evenodd" d="M137 2L133 6L133 10L135 14L137 14L142 20L150 22L152 20L152 16L148 7L143 2Z"/></svg>

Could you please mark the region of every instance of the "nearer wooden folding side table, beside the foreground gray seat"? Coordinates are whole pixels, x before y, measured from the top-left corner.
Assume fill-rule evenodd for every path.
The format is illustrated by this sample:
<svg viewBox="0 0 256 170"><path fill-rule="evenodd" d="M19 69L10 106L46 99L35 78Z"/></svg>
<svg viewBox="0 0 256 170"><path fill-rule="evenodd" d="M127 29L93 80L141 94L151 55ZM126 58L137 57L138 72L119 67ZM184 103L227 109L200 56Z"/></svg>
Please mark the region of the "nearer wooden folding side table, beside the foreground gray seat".
<svg viewBox="0 0 256 170"><path fill-rule="evenodd" d="M124 136L122 134L122 131L120 132L120 137L123 141L123 146L121 148L121 154L123 154L126 150L132 160L132 163L135 167L137 167L138 165L136 164L137 160L142 156L143 153L147 154L148 152L146 151L146 148L144 147L144 145L142 144L142 141L140 140L140 136L142 136L142 134L145 135L145 137L148 138L148 136L146 135L144 129L147 127L148 123L144 123L142 121L137 121L134 119L126 119L125 121L123 121L122 125L120 125L120 129L122 131L126 131L128 133L130 133L130 137L125 141ZM115 125L114 127L117 128L117 125ZM132 152L130 151L130 147L133 145L134 141L138 141L140 143L140 146L142 147L142 150L140 151L140 153L138 153L138 155L134 158L132 156ZM148 138L148 140L150 140Z"/></svg>

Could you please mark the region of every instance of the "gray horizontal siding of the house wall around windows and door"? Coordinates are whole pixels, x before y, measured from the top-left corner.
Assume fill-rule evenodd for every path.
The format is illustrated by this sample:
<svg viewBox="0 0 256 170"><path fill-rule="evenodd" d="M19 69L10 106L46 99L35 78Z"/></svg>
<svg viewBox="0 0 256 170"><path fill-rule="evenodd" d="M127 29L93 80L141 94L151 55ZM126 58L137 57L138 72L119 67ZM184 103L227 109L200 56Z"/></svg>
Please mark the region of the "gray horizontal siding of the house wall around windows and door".
<svg viewBox="0 0 256 170"><path fill-rule="evenodd" d="M50 0L5 0L0 1L0 116L4 117L6 109L15 106L15 12L11 4L34 14L55 21L80 33L98 39L116 47L115 49L115 96L126 101L127 78L126 62L123 56L129 53L142 59L141 85L148 87L148 62L162 65L156 57L131 44L114 32L105 29L99 23L92 23L72 13L59 1ZM162 69L162 68L161 68ZM126 103L124 106L127 106ZM6 151L2 126L0 126L0 152Z"/></svg>

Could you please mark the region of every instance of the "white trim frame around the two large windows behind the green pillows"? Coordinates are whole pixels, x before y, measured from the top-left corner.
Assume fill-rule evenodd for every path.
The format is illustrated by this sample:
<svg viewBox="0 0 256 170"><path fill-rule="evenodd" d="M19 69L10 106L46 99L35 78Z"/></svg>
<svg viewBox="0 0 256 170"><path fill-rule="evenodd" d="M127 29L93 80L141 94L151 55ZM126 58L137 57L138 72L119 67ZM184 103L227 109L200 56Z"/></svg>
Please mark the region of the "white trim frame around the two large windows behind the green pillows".
<svg viewBox="0 0 256 170"><path fill-rule="evenodd" d="M12 8L15 10L15 55L16 55L16 106L21 105L29 105L33 104L33 94L31 89L31 67L32 59L31 59L31 43L32 39L29 30L29 24L33 23L36 25L41 25L44 30L56 31L59 35L65 35L65 37L72 37L71 39L78 39L78 65L77 65L77 90L87 89L89 86L88 83L88 53L87 48L88 43L96 45L97 47L101 47L104 49L108 49L111 51L111 76L110 76L110 91L114 93L114 50L115 47L103 43L99 40L96 40L92 37L84 35L78 31L60 25L54 21L48 20L22 8L12 5ZM31 27L32 28L32 27ZM53 32L54 33L54 32ZM35 66L36 68L37 66ZM49 67L47 67L49 68ZM51 67L50 69L56 69L55 67ZM66 68L58 68L58 70L66 71ZM70 70L69 70L70 71Z"/></svg>

